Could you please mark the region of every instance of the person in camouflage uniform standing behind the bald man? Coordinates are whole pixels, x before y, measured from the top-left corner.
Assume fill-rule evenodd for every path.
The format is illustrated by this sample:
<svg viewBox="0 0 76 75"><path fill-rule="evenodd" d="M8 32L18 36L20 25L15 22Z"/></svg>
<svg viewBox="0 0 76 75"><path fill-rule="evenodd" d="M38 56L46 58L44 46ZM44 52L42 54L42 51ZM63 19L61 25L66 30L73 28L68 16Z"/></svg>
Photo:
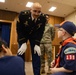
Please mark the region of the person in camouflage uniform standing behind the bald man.
<svg viewBox="0 0 76 75"><path fill-rule="evenodd" d="M52 61L52 41L55 37L54 27L47 23L45 26L45 31L43 38L41 39L41 73L45 73L45 54L47 56L48 71L50 68L50 63Z"/></svg>

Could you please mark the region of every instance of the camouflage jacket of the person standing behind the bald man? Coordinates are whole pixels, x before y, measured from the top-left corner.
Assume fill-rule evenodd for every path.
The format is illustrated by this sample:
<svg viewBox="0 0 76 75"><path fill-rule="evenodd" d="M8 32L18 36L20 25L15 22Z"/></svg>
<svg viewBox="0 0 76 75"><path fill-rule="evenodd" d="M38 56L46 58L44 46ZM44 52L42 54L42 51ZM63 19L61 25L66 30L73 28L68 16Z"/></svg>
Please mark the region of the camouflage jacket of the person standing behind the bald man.
<svg viewBox="0 0 76 75"><path fill-rule="evenodd" d="M55 29L51 24L46 24L41 43L51 43L55 38Z"/></svg>

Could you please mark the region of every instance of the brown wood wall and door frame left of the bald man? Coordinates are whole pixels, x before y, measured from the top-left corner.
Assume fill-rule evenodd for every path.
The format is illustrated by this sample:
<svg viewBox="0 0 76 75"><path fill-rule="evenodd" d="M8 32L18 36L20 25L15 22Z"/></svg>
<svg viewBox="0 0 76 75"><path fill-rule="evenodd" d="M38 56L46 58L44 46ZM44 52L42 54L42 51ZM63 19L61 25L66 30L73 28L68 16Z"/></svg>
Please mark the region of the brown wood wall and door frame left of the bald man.
<svg viewBox="0 0 76 75"><path fill-rule="evenodd" d="M0 22L11 23L11 34L10 34L10 49L15 54L18 50L17 34L16 34L16 17L18 13L0 10Z"/></svg>

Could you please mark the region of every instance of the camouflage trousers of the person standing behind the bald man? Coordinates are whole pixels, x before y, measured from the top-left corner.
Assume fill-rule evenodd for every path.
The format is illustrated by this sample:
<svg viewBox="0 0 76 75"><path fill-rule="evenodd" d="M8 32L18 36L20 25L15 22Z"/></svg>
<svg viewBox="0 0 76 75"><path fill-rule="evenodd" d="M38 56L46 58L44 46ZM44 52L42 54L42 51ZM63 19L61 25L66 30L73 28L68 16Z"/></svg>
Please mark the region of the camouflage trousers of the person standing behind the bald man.
<svg viewBox="0 0 76 75"><path fill-rule="evenodd" d="M45 54L47 56L47 62L48 62L48 67L51 64L52 61L52 44L40 44L41 48L41 67L45 67Z"/></svg>

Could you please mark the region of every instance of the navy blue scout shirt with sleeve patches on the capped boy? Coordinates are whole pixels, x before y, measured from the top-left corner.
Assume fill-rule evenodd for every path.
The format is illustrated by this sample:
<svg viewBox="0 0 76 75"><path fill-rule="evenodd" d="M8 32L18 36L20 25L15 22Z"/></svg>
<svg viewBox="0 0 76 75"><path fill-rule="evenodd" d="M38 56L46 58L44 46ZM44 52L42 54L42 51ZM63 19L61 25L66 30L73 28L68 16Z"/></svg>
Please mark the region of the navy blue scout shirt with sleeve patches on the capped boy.
<svg viewBox="0 0 76 75"><path fill-rule="evenodd" d="M59 67L72 70L71 73L57 72L52 75L76 75L76 42L68 38L62 43Z"/></svg>

